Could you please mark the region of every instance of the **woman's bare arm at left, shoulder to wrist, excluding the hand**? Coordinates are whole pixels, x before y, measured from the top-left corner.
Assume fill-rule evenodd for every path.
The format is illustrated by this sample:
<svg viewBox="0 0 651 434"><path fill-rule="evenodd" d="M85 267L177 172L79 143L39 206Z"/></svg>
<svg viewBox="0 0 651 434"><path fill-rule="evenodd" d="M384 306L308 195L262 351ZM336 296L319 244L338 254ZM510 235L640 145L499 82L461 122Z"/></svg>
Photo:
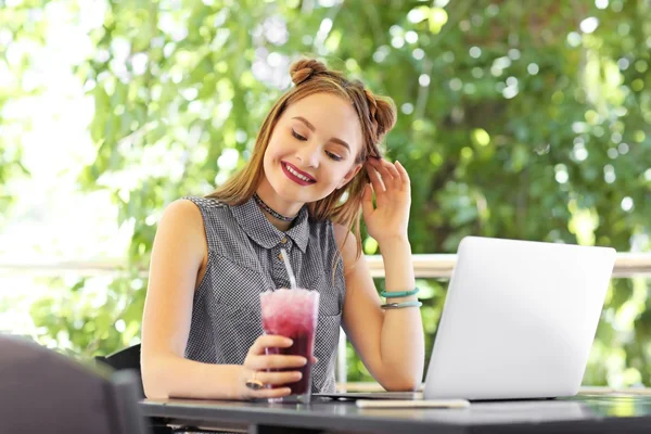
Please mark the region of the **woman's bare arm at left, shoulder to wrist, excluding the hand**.
<svg viewBox="0 0 651 434"><path fill-rule="evenodd" d="M232 397L230 379L239 366L200 363L183 358L192 301L207 245L199 208L190 201L170 204L152 248L142 319L142 381L150 398Z"/></svg>

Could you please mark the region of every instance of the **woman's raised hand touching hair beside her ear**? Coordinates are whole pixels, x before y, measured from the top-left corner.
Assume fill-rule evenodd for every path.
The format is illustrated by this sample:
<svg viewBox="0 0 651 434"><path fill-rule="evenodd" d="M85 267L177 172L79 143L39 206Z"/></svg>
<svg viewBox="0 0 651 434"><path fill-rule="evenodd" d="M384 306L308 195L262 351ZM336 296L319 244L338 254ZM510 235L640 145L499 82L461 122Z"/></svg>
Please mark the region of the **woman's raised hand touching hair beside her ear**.
<svg viewBox="0 0 651 434"><path fill-rule="evenodd" d="M411 186L407 170L399 162L394 165L384 158L373 157L367 161L366 167L371 183L363 191L361 209L369 235L380 245L384 240L407 239L411 206Z"/></svg>

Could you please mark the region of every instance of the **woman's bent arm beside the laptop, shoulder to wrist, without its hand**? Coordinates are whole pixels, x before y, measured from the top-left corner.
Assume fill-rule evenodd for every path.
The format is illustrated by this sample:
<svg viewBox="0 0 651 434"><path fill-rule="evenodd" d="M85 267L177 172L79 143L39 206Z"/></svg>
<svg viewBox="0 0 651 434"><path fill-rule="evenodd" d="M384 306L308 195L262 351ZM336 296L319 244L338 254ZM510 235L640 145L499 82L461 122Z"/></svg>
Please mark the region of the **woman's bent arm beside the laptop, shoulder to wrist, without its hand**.
<svg viewBox="0 0 651 434"><path fill-rule="evenodd" d="M344 260L346 296L343 327L371 375L387 391L413 391L423 376L424 336L420 309L408 307L383 311L366 258L356 256L356 238L341 225L334 226ZM413 289L409 243L395 240L382 248L387 291ZM416 296L392 298L392 302Z"/></svg>

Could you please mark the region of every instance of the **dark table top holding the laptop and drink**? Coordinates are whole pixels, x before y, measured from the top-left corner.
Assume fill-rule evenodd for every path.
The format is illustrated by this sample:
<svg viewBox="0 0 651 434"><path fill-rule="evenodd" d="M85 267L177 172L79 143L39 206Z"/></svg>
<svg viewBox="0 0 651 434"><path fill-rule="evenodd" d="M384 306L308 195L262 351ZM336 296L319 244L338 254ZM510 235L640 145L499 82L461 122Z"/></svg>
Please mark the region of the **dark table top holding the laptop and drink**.
<svg viewBox="0 0 651 434"><path fill-rule="evenodd" d="M170 424L257 433L651 433L651 396L582 394L546 400L481 401L467 409L359 409L310 405L145 399L146 417ZM248 430L248 431L246 431Z"/></svg>

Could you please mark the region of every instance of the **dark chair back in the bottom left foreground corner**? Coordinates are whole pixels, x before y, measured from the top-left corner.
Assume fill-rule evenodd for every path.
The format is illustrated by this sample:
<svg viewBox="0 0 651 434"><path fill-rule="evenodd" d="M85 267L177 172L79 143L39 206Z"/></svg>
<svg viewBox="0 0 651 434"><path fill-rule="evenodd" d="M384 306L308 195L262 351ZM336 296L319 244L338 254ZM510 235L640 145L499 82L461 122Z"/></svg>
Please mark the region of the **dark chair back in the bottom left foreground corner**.
<svg viewBox="0 0 651 434"><path fill-rule="evenodd" d="M0 334L0 432L149 433L137 379Z"/></svg>

